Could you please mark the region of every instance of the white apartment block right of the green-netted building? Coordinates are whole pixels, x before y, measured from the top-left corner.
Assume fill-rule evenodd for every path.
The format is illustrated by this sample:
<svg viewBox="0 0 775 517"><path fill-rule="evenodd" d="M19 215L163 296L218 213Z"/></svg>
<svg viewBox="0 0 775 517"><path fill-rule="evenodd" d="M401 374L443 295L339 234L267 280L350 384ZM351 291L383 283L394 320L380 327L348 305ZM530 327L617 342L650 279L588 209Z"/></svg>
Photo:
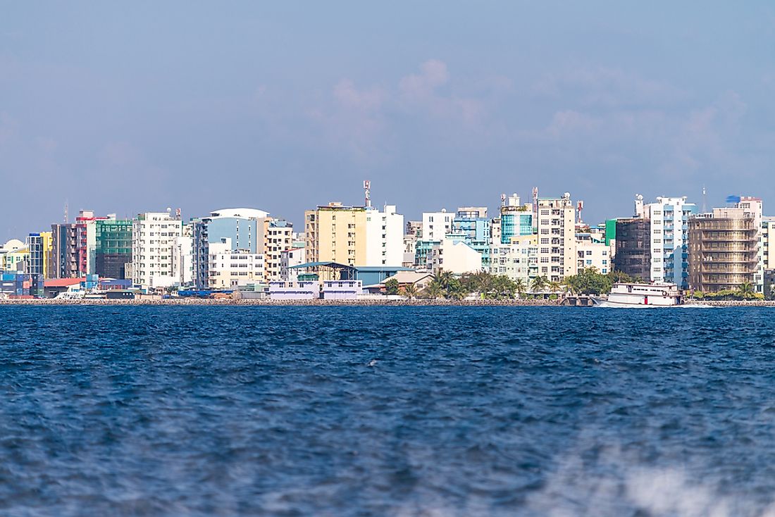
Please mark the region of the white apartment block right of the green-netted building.
<svg viewBox="0 0 775 517"><path fill-rule="evenodd" d="M174 243L183 223L169 212L146 212L132 224L132 281L143 288L166 288L177 283L172 263Z"/></svg>

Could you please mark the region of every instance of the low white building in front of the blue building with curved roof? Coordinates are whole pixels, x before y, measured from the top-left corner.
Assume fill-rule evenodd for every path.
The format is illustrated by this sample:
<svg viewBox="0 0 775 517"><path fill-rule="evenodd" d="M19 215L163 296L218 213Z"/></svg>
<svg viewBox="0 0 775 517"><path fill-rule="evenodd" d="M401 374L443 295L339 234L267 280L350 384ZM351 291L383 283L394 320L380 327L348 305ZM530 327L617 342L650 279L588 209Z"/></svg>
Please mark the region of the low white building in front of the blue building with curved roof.
<svg viewBox="0 0 775 517"><path fill-rule="evenodd" d="M263 255L250 250L232 250L229 238L210 243L208 274L211 289L235 289L266 281Z"/></svg>

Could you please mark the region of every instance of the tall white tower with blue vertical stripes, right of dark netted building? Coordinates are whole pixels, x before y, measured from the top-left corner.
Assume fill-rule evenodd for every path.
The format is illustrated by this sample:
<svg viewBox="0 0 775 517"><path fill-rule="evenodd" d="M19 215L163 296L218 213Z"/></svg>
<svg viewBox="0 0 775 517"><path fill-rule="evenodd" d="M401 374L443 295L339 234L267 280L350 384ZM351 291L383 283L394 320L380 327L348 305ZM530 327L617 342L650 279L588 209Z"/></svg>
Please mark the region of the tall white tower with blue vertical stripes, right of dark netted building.
<svg viewBox="0 0 775 517"><path fill-rule="evenodd" d="M688 221L697 213L697 205L681 198L658 197L656 203L643 204L636 196L636 216L649 219L651 226L651 281L688 288Z"/></svg>

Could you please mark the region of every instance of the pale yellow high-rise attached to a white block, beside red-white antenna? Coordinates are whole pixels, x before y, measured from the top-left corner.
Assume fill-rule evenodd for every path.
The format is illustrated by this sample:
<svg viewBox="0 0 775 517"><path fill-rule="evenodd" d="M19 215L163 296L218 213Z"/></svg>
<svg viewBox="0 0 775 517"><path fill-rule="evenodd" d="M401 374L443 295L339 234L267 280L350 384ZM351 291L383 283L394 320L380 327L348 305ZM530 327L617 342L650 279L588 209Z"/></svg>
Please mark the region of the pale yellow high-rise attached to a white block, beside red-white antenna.
<svg viewBox="0 0 775 517"><path fill-rule="evenodd" d="M366 209L340 202L304 213L307 262L366 264Z"/></svg>

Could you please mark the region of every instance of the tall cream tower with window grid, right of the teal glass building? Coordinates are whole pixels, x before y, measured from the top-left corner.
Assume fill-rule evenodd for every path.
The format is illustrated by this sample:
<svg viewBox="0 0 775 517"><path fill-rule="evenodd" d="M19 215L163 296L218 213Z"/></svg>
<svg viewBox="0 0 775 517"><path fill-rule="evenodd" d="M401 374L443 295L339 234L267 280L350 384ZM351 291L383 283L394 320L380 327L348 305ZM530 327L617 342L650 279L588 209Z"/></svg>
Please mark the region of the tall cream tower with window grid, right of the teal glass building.
<svg viewBox="0 0 775 517"><path fill-rule="evenodd" d="M539 198L537 220L539 275L560 282L576 274L576 207L562 198Z"/></svg>

